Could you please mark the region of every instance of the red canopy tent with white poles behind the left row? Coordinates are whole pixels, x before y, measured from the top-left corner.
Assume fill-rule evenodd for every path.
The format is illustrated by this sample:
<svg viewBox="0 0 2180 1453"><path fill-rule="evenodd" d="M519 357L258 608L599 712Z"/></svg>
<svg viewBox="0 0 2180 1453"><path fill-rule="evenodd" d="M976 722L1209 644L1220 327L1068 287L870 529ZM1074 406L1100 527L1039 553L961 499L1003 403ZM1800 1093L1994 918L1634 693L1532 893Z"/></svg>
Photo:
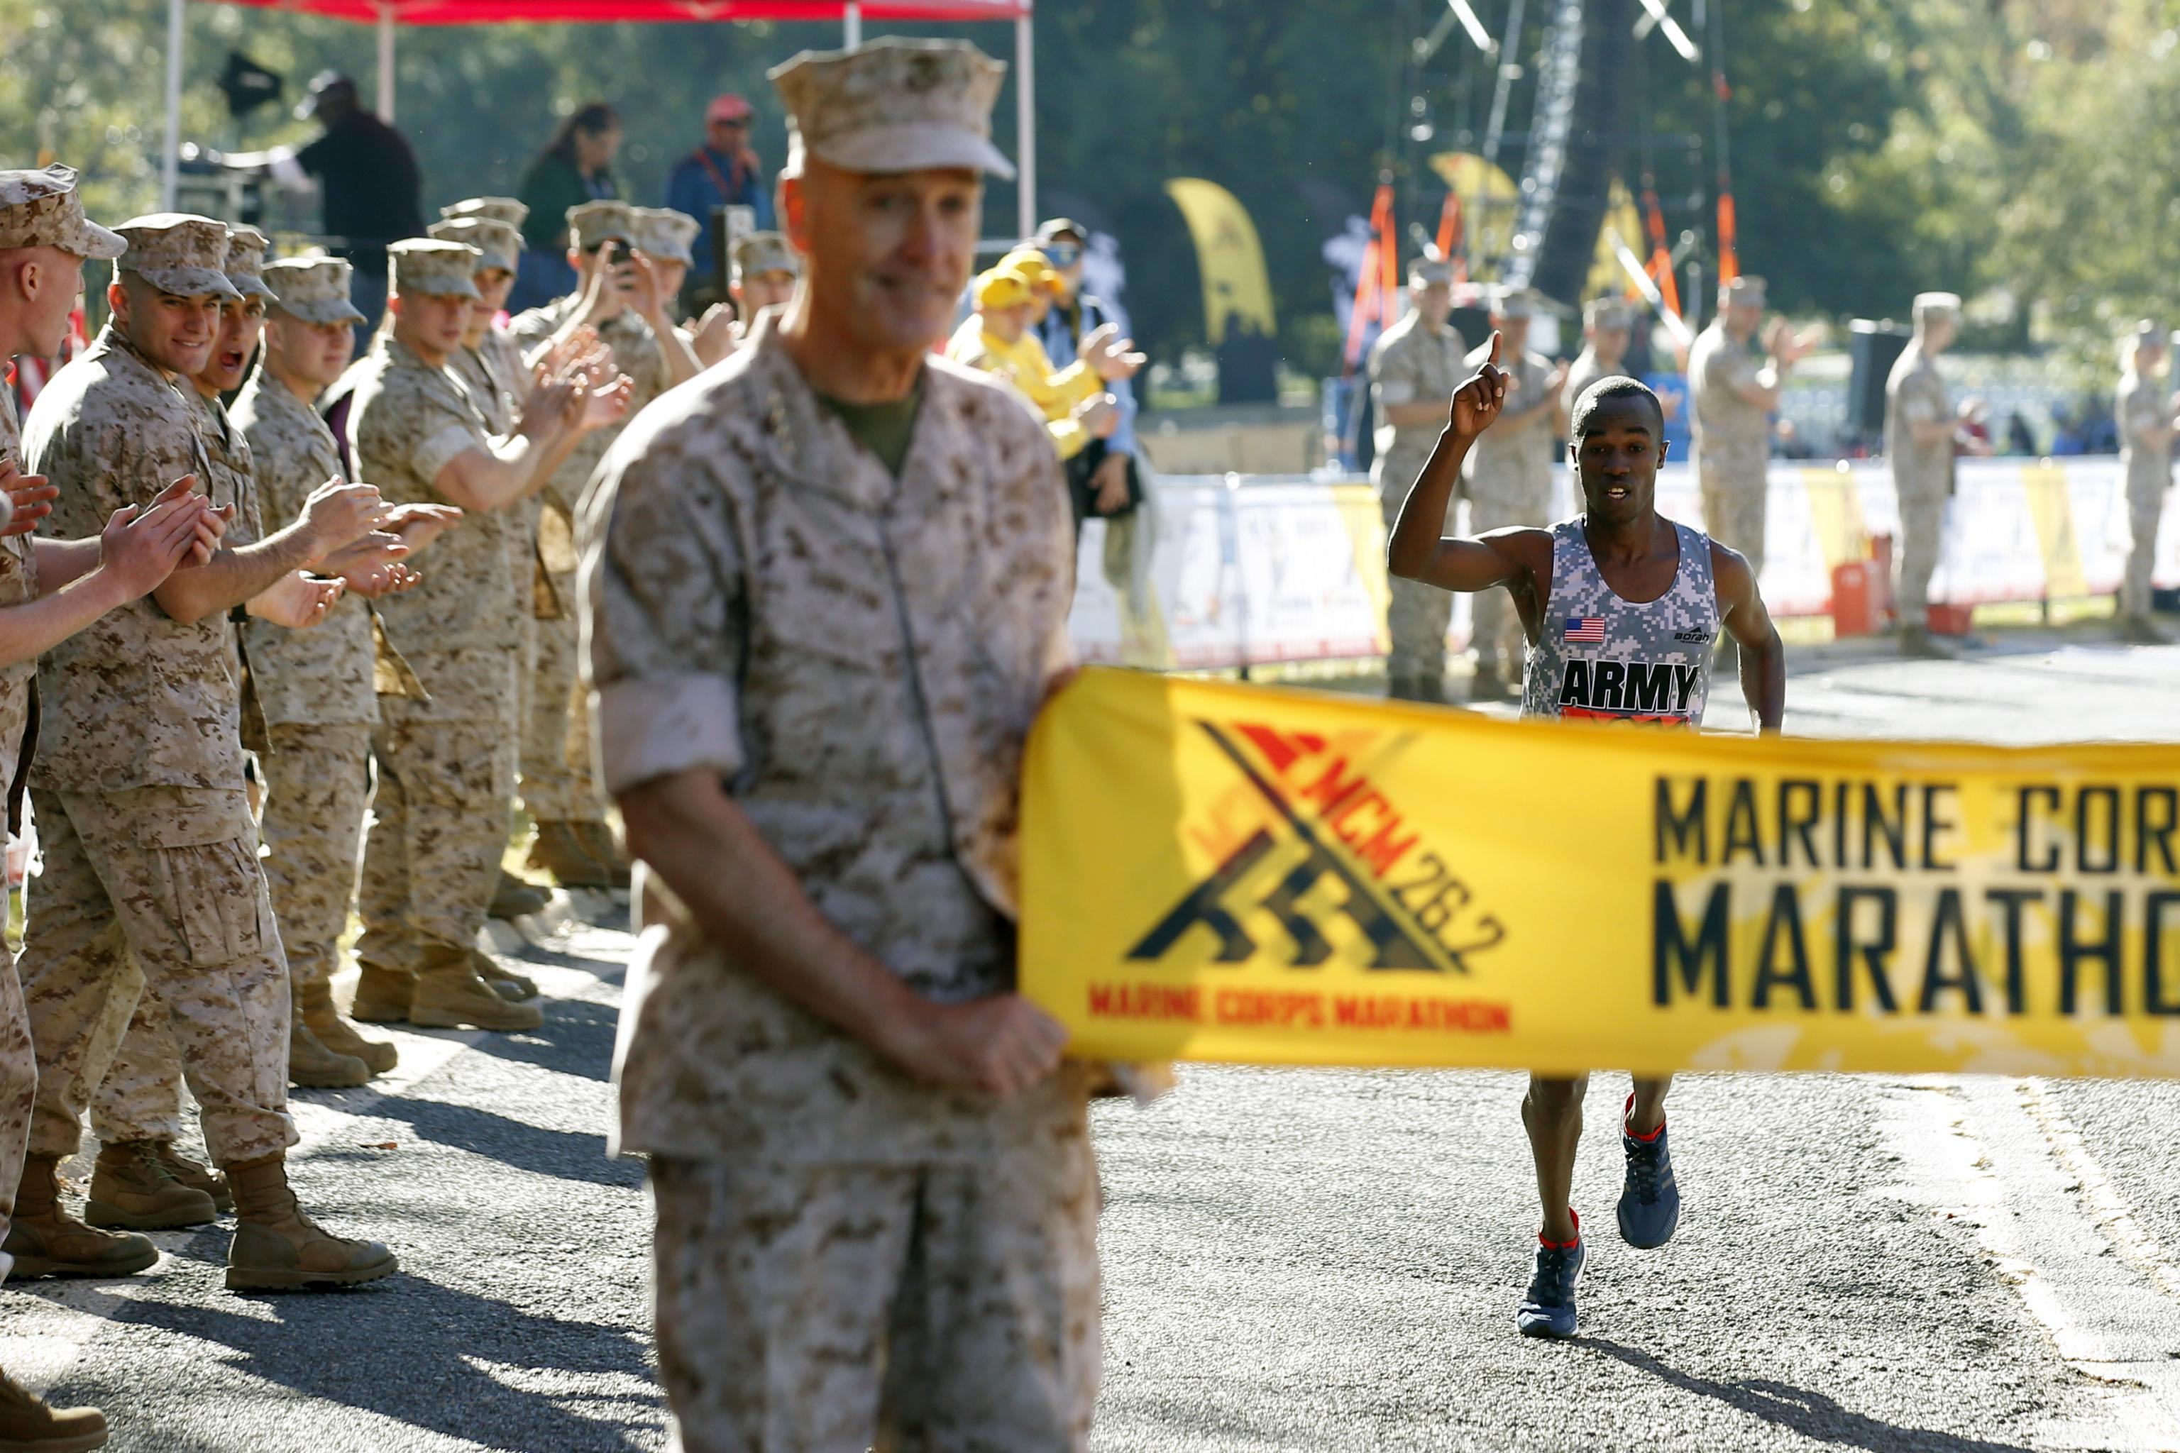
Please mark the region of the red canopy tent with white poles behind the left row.
<svg viewBox="0 0 2180 1453"><path fill-rule="evenodd" d="M1031 11L1036 0L211 0L279 11L307 11L375 24L379 30L379 115L395 113L395 26L482 26L508 22L837 22L846 41L863 39L865 20L1012 20L1014 100L1020 137L1020 235L1038 224L1038 120ZM185 0L168 0L166 41L166 190L174 205L181 157L181 17Z"/></svg>

